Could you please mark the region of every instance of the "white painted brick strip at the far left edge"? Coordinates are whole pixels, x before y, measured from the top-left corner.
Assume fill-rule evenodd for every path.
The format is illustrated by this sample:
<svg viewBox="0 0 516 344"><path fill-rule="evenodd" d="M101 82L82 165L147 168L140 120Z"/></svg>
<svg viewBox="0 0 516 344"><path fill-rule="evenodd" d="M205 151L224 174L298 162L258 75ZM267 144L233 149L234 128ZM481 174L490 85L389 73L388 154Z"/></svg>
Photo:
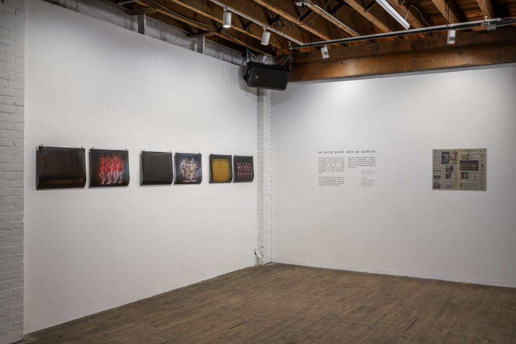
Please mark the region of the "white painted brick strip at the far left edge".
<svg viewBox="0 0 516 344"><path fill-rule="evenodd" d="M23 339L25 0L0 0L0 344Z"/></svg>

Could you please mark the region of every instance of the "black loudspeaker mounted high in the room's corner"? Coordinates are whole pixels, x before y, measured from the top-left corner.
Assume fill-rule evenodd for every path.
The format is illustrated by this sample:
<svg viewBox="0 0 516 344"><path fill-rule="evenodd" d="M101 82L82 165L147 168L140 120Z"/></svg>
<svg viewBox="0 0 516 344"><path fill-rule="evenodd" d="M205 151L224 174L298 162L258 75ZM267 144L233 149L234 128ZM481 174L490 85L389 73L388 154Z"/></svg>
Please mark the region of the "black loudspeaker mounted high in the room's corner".
<svg viewBox="0 0 516 344"><path fill-rule="evenodd" d="M287 87L290 70L281 65L248 62L244 75L247 86L283 91Z"/></svg>

